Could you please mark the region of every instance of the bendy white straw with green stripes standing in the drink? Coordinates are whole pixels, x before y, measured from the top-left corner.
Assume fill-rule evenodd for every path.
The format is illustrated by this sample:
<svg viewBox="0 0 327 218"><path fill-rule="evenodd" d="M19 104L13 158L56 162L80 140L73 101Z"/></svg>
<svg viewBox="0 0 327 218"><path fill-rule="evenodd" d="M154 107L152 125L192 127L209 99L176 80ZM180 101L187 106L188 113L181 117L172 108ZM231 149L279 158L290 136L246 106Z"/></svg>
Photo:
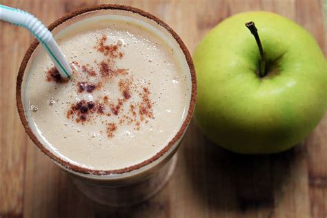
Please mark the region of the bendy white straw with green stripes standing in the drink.
<svg viewBox="0 0 327 218"><path fill-rule="evenodd" d="M32 32L34 37L46 48L50 59L54 63L54 66L56 66L61 77L70 78L72 69L63 55L63 52L61 52L57 42L54 41L52 33L39 21L39 19L26 11L3 5L0 5L0 19L13 23L16 26L22 26Z"/></svg>

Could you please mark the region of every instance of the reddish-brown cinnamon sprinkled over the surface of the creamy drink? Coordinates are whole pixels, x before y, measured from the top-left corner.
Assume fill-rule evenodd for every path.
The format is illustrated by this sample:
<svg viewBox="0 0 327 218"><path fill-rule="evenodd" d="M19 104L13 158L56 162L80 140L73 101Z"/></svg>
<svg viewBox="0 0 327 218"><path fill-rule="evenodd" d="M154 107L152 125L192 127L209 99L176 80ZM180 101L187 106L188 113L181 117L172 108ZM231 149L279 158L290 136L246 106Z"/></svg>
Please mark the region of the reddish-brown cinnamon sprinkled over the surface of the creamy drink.
<svg viewBox="0 0 327 218"><path fill-rule="evenodd" d="M118 91L120 97L110 99L108 95L99 96L95 98L95 101L87 101L82 99L78 102L71 103L70 108L67 112L68 119L75 119L77 123L83 124L87 121L93 121L95 117L110 117L114 115L117 117L117 123L112 121L102 121L107 123L107 136L112 138L115 136L115 132L119 126L123 125L134 125L135 130L141 128L141 122L148 122L146 118L153 118L152 101L150 99L150 90L144 86L133 83L132 75L128 75L127 69L121 69L116 67L117 59L123 58L123 53L120 51L121 43L105 45L107 40L106 35L103 35L95 49L103 54L103 59L97 63L97 67L92 68L88 63L81 66L77 61L73 61L75 68L80 68L80 71L84 72L85 75L77 74L73 82L77 82L77 93L88 92L92 93L95 90L100 90L103 83L108 82L108 79L112 79L112 82L116 82L116 77L119 77L117 81ZM55 81L61 81L61 77L55 74L55 68L50 78L57 79ZM59 72L58 72L59 74ZM60 76L60 75L59 75ZM89 77L95 77L92 79L93 82L88 81ZM148 83L150 85L150 83ZM104 90L104 89L103 89ZM139 95L138 100L130 101L133 95ZM128 106L127 111L124 108ZM109 119L109 118L108 118Z"/></svg>

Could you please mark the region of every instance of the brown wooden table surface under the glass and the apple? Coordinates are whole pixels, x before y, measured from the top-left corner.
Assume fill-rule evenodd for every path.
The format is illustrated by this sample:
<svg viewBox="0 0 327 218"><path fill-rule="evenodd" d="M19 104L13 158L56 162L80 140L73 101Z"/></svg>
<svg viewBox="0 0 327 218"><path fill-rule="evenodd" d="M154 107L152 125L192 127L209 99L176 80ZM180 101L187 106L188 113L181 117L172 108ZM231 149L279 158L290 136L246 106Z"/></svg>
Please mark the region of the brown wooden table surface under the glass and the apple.
<svg viewBox="0 0 327 218"><path fill-rule="evenodd" d="M32 12L46 25L77 8L108 2L2 1ZM191 52L219 21L246 10L270 10L297 21L327 52L322 1L110 1L114 2L164 19ZM159 195L132 208L97 206L80 195L66 173L24 132L16 110L15 82L32 36L3 22L0 32L0 217L327 217L326 115L303 145L264 156L217 148L191 123L177 168Z"/></svg>

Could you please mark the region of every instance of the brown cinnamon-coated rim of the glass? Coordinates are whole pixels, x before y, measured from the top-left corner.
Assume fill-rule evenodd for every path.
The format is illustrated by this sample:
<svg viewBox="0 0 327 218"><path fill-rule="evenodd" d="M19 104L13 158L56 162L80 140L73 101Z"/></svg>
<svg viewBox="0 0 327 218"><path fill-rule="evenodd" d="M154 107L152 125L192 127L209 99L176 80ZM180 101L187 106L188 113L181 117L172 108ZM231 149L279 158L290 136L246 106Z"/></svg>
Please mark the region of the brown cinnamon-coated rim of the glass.
<svg viewBox="0 0 327 218"><path fill-rule="evenodd" d="M17 75L17 87L16 87L17 110L18 110L21 122L23 123L23 127L25 128L25 131L28 134L28 136L30 137L30 139L32 139L32 141L37 145L37 147L39 147L39 149L44 154L46 154L48 157L50 157L50 159L55 161L57 164L60 164L61 166L63 166L64 168L68 168L69 170L73 170L75 172L80 172L80 173L87 174L87 175L123 174L125 172L131 172L133 170L138 170L139 168L141 168L143 166L147 166L148 164L151 164L155 160L159 159L159 157L162 157L166 152L168 152L168 150L170 150L170 148L173 145L175 145L175 143L179 139L181 139L181 137L183 137L184 131L188 127L188 123L190 123L190 119L192 118L192 114L193 114L193 111L194 111L194 108L195 108L195 101L196 101L196 95L197 95L197 81L196 81L196 77L195 77L195 68L193 66L193 62L192 62L190 52L186 48L183 41L181 41L181 38L179 38L177 33L174 30L172 30L172 28L170 28L166 23L164 23L164 21L161 21L161 19L155 17L154 15L152 15L152 14L150 14L148 12L140 10L138 8L133 8L133 7L130 7L130 6L116 5L116 4L103 4L103 5L99 5L99 6L90 6L90 7L87 7L87 8L81 8L79 10L75 10L73 12L70 12L69 14L66 14L65 16L57 19L56 21L51 23L50 26L48 26L48 29L50 31L52 31L54 28L59 26L61 23L64 23L65 21L68 21L69 19L72 19L73 17L77 17L80 14L83 14L83 13L86 13L86 12L92 12L92 11L95 11L95 10L124 10L124 11L128 11L128 12L137 13L137 14L143 16L143 17L146 17L148 19L151 19L152 21L155 21L155 23L157 23L159 26L162 26L163 28L168 30L168 32L172 35L172 37L174 37L174 39L179 44L179 46L180 46L180 48L181 48L181 50L184 53L184 56L186 58L186 62L188 63L188 67L190 69L192 90L191 90L191 97L190 97L190 105L189 105L189 108L188 108L188 115L186 116L186 119L182 123L181 128L179 129L177 134L172 138L172 140L163 149L161 149L159 152L157 152L157 154L155 156L151 157L150 159L146 159L145 161L143 161L143 162L141 162L139 164L135 164L133 166L128 166L126 168L121 168L121 169L117 169L117 170L92 170L92 169L89 169L89 168L83 168L81 166L77 166L75 164L72 164L72 163L70 163L68 161L65 161L65 160L61 159L60 157L54 155L50 150L48 150L48 148L46 148L43 145L43 143L41 143L37 139L37 137L32 132L30 126L28 126L28 121L26 119L26 116L25 116L25 113L24 113L24 110L23 110L23 99L21 97L21 88L22 88L22 83L23 83L23 75L24 75L24 72L26 70L26 66L28 64L28 61L30 60L30 57L32 56L34 50L39 45L39 41L37 41L37 39L34 39L32 44L28 48L26 54L23 57L23 60L21 61L21 66L19 67L19 72L18 72L18 75Z"/></svg>

